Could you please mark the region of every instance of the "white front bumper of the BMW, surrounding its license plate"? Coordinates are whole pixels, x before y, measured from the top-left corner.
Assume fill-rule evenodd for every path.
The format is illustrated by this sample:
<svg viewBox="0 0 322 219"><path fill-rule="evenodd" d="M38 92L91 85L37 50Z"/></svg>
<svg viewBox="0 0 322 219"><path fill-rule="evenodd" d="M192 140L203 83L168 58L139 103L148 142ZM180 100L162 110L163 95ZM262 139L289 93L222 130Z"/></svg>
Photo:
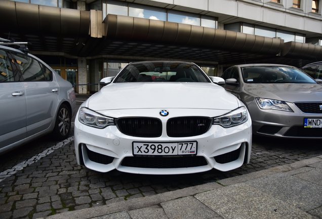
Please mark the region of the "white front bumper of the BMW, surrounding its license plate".
<svg viewBox="0 0 322 219"><path fill-rule="evenodd" d="M116 126L104 129L89 127L76 119L74 128L76 159L78 164L84 164L87 168L99 172L116 169L139 174L186 174L213 168L229 171L249 163L252 148L251 125L249 119L246 123L231 128L212 125L205 134L198 136L168 137L163 134L160 137L148 138L125 135ZM133 141L197 141L198 149L196 156L189 158L178 156L142 158L133 156ZM176 162L172 162L175 160ZM177 164L177 161L181 164ZM156 162L161 164L158 165Z"/></svg>

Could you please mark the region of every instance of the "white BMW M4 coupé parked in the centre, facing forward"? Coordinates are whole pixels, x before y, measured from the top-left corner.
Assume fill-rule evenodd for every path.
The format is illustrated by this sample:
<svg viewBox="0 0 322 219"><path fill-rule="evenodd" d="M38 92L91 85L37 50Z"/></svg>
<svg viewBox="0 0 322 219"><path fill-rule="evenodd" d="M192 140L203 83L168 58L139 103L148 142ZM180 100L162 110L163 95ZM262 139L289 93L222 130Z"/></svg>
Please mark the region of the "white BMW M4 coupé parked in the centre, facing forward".
<svg viewBox="0 0 322 219"><path fill-rule="evenodd" d="M249 163L245 105L196 64L130 63L79 107L77 163L108 172L186 174Z"/></svg>

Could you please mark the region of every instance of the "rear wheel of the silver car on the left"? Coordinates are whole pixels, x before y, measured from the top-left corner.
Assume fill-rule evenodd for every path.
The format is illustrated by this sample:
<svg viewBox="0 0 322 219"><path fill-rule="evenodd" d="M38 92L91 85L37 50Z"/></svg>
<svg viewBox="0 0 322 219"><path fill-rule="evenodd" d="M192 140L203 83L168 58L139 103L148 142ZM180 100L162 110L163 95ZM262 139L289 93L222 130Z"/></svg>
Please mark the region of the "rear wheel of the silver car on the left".
<svg viewBox="0 0 322 219"><path fill-rule="evenodd" d="M53 135L55 138L62 140L67 138L71 129L71 113L66 104L61 104L55 122Z"/></svg>

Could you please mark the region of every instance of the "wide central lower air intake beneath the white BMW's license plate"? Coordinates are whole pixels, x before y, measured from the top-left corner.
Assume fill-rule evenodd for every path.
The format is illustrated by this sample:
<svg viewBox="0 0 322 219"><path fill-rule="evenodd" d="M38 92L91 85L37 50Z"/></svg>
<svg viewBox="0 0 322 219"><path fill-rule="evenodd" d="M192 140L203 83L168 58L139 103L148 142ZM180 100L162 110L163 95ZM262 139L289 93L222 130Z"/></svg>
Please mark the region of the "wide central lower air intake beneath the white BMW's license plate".
<svg viewBox="0 0 322 219"><path fill-rule="evenodd" d="M139 168L185 168L208 165L204 157L126 157L122 166Z"/></svg>

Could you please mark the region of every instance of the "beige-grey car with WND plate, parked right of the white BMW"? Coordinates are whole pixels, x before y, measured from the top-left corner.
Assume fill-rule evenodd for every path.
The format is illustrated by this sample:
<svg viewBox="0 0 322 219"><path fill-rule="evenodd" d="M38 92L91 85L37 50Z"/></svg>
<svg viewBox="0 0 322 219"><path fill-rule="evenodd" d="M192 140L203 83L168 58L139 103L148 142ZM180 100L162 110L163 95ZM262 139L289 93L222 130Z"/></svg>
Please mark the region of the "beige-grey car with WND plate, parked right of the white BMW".
<svg viewBox="0 0 322 219"><path fill-rule="evenodd" d="M253 134L322 138L322 87L288 65L244 64L227 68L223 87L249 109Z"/></svg>

